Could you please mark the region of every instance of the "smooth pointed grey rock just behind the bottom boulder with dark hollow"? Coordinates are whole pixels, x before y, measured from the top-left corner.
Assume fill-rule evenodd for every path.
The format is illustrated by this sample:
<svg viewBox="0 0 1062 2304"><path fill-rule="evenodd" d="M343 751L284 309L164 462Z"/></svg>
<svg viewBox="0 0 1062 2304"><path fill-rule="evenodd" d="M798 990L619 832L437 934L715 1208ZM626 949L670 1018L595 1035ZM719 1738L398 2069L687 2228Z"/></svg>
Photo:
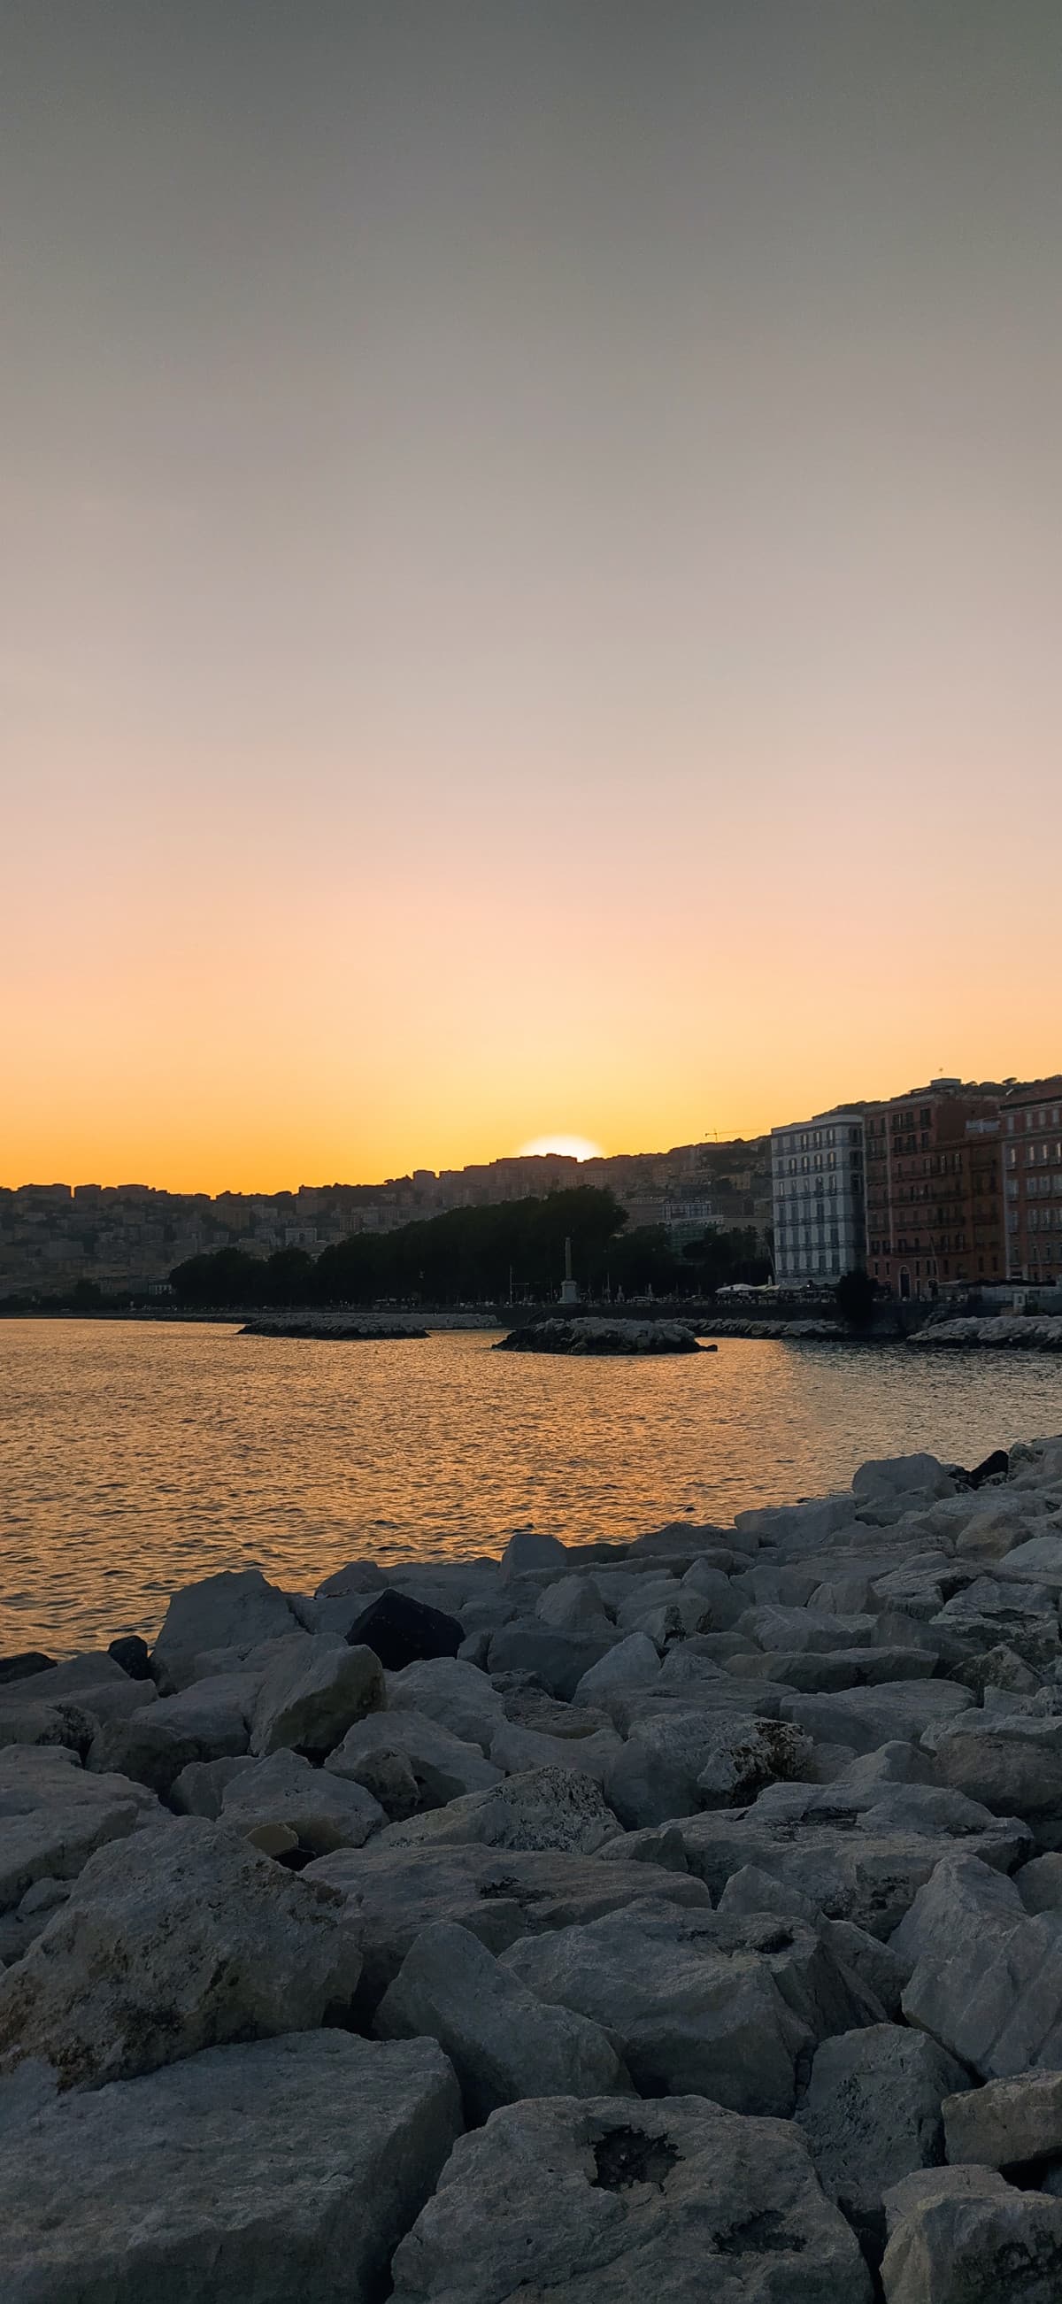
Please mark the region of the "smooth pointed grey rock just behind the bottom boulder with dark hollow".
<svg viewBox="0 0 1062 2304"><path fill-rule="evenodd" d="M438 2039L470 2122L518 2097L608 2097L631 2083L601 2025L548 2007L454 1922L424 1928L380 2000L378 2039Z"/></svg>

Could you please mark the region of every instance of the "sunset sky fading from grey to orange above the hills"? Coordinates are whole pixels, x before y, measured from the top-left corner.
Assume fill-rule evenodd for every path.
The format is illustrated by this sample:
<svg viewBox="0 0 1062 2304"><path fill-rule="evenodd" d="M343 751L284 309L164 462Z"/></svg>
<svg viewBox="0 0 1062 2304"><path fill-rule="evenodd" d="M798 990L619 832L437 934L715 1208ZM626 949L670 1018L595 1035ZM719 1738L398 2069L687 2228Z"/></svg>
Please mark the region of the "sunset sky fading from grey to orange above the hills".
<svg viewBox="0 0 1062 2304"><path fill-rule="evenodd" d="M0 14L0 1182L1062 1064L1057 0Z"/></svg>

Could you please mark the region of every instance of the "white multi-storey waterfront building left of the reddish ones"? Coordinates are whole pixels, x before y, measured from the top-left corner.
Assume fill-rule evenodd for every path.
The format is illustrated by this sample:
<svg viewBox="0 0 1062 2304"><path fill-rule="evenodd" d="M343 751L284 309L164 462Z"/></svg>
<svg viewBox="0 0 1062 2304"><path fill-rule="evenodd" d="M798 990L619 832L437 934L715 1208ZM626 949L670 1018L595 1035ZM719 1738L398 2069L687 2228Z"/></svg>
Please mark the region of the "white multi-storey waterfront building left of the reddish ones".
<svg viewBox="0 0 1062 2304"><path fill-rule="evenodd" d="M772 1129L774 1276L822 1281L866 1265L864 1115Z"/></svg>

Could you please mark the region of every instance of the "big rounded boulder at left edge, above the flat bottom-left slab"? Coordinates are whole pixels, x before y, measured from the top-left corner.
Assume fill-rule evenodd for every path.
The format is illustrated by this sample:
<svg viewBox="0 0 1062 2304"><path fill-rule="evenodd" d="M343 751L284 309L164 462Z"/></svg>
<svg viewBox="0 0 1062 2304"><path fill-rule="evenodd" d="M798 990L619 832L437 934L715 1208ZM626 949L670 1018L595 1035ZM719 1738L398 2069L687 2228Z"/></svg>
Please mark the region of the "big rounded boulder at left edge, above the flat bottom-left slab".
<svg viewBox="0 0 1062 2304"><path fill-rule="evenodd" d="M362 1972L336 1892L223 1825L170 1818L101 1848L18 1968L0 1979L0 2071L44 2057L99 2087L233 2039L346 2011Z"/></svg>

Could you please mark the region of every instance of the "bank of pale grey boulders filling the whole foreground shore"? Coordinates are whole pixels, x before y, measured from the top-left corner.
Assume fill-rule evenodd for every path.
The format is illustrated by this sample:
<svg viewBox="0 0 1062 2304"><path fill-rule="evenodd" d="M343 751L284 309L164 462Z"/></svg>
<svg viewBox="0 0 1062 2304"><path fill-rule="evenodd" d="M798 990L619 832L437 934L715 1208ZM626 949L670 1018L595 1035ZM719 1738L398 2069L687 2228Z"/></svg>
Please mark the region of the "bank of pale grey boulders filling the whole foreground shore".
<svg viewBox="0 0 1062 2304"><path fill-rule="evenodd" d="M0 1661L5 2304L1057 2304L1062 1438Z"/></svg>

